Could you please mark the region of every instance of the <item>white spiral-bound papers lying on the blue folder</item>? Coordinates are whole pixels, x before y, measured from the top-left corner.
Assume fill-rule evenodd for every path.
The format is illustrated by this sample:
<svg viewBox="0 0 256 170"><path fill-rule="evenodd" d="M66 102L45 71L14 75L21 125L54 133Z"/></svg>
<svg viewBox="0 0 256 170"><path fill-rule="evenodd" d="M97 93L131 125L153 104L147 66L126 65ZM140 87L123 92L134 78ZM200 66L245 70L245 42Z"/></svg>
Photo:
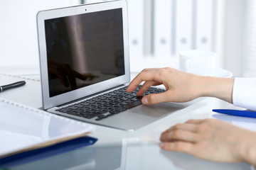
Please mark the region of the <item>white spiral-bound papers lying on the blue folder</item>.
<svg viewBox="0 0 256 170"><path fill-rule="evenodd" d="M92 128L0 98L0 159L83 137Z"/></svg>

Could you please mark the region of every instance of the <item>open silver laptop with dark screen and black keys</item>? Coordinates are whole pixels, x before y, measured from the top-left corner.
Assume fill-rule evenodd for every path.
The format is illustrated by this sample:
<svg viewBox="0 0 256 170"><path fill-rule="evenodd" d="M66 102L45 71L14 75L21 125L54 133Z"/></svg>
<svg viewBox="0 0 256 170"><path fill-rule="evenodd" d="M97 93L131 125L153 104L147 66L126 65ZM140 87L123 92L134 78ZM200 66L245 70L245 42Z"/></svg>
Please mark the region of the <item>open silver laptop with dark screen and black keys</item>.
<svg viewBox="0 0 256 170"><path fill-rule="evenodd" d="M143 106L130 82L127 1L40 11L43 109L87 123L137 130L184 106ZM151 87L146 94L164 89ZM146 95L145 94L145 95Z"/></svg>

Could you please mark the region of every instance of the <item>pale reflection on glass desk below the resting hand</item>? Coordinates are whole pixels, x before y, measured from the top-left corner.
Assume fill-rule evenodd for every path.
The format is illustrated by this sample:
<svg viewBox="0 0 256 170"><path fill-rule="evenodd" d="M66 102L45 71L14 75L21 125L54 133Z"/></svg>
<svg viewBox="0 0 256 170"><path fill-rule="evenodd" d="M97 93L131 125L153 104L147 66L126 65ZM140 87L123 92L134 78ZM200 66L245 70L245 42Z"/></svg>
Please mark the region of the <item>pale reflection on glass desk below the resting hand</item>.
<svg viewBox="0 0 256 170"><path fill-rule="evenodd" d="M250 170L246 163L217 163L198 159L189 154L168 152L151 143L127 142L126 169L163 170Z"/></svg>

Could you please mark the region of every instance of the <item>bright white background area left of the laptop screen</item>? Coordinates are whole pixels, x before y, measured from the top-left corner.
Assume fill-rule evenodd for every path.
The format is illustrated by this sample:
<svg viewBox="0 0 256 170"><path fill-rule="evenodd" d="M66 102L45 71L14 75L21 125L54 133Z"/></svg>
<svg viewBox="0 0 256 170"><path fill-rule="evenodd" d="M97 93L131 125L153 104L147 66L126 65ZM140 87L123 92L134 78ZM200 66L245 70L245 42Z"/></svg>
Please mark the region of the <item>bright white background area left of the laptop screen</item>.
<svg viewBox="0 0 256 170"><path fill-rule="evenodd" d="M38 74L36 13L78 4L77 0L2 0L0 3L0 72Z"/></svg>

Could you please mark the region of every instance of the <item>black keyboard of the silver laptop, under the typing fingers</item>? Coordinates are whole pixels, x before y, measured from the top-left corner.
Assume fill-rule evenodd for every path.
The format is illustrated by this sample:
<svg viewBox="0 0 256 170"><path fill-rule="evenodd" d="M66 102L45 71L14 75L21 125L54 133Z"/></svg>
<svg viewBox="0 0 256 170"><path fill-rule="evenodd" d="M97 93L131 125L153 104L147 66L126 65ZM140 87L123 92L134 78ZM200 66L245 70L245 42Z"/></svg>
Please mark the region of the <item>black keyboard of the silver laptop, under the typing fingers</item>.
<svg viewBox="0 0 256 170"><path fill-rule="evenodd" d="M110 91L106 94L87 99L86 101L82 101L80 103L59 108L55 111L68 113L70 115L76 115L87 119L95 118L95 120L99 121L126 111L127 109L141 105L142 97L137 96L137 91L139 91L140 87L141 86L139 86L132 93L128 93L126 91L127 86L125 86L121 89ZM164 91L164 89L150 87L144 96L148 94L159 94Z"/></svg>

